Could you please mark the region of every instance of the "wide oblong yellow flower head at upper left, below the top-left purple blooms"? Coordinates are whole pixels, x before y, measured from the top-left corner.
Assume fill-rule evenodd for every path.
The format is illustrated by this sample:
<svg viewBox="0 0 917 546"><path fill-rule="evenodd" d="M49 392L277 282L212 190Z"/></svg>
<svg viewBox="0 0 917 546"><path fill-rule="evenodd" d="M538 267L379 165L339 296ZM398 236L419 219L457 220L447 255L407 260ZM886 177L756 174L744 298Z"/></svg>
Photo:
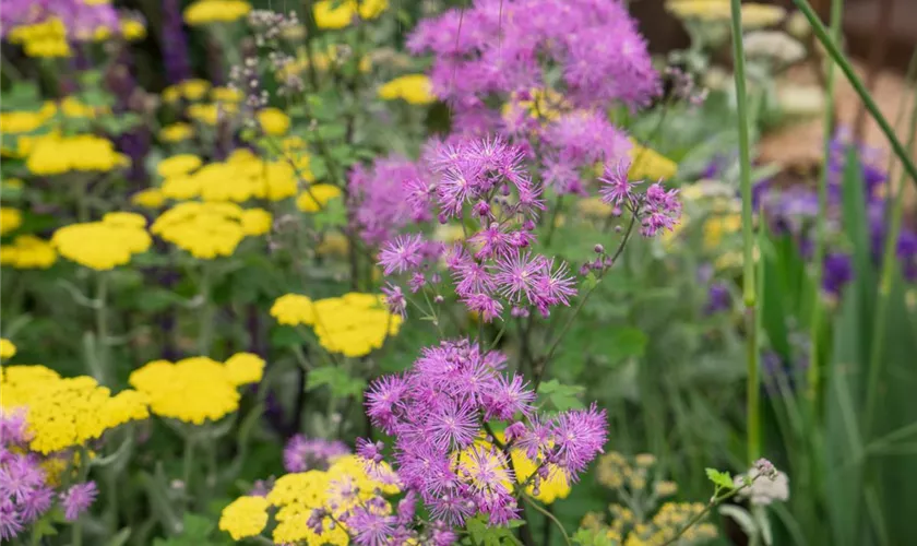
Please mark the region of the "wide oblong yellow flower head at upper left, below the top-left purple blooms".
<svg viewBox="0 0 917 546"><path fill-rule="evenodd" d="M25 159L28 170L38 176L73 170L106 173L128 165L130 159L118 153L111 141L92 134L39 136Z"/></svg>

